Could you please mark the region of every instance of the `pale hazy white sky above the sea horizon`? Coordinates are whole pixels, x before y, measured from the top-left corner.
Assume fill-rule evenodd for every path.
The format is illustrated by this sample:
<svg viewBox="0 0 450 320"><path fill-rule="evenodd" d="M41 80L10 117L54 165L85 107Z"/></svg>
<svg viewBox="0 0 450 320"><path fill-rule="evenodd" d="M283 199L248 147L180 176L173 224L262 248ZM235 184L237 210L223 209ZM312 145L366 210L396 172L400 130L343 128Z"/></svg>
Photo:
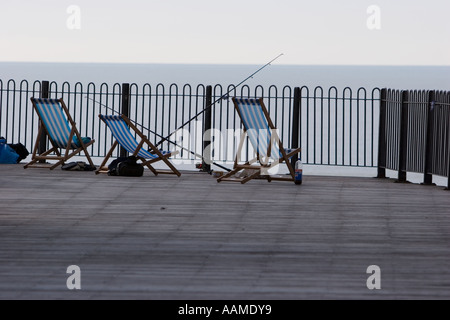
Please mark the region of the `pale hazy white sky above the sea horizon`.
<svg viewBox="0 0 450 320"><path fill-rule="evenodd" d="M0 2L0 61L450 65L449 0Z"/></svg>

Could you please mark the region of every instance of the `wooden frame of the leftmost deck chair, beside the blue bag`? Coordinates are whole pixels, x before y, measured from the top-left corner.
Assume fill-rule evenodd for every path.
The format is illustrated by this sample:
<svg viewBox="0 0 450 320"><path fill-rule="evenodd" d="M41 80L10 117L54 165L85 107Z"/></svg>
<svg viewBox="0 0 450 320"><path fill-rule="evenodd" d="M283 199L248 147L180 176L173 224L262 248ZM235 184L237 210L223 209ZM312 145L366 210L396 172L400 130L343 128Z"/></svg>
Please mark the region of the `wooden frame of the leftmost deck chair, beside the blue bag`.
<svg viewBox="0 0 450 320"><path fill-rule="evenodd" d="M70 158L78 155L81 152L84 152L89 164L92 167L94 166L94 163L92 162L92 159L89 155L89 152L87 148L92 145L95 140L91 140L88 143L84 143L83 139L80 135L80 132L77 129L76 123L73 121L69 109L67 108L66 104L64 103L63 99L37 99L37 98L31 98L31 103L33 104L33 108L36 111L38 117L39 117L39 129L38 129L38 135L36 138L36 142L33 148L33 153L31 156L31 161L24 166L25 169L27 168L49 168L50 170L55 169L56 167L60 165L64 165L66 161L68 161ZM59 144L55 140L55 137L53 137L51 134L52 130L48 126L50 124L45 123L43 121L43 115L40 114L39 108L37 106L37 103L45 102L46 104L58 104L61 107L61 111L65 115L65 118L62 118L63 115L61 115L62 120L67 120L68 122L68 129L70 129L70 133L68 135L68 139L66 142L64 142L64 145L62 142ZM53 125L56 125L55 123L52 123ZM65 126L66 124L64 124ZM65 130L66 128L63 128L62 130ZM64 132L67 133L67 132ZM48 140L50 141L51 148L48 150L38 154L39 150L39 144L41 141L41 137L46 134L48 137ZM79 146L74 144L73 139L77 137L79 141ZM42 161L47 160L54 160L57 161L55 164L51 163L42 163Z"/></svg>

